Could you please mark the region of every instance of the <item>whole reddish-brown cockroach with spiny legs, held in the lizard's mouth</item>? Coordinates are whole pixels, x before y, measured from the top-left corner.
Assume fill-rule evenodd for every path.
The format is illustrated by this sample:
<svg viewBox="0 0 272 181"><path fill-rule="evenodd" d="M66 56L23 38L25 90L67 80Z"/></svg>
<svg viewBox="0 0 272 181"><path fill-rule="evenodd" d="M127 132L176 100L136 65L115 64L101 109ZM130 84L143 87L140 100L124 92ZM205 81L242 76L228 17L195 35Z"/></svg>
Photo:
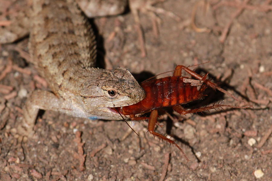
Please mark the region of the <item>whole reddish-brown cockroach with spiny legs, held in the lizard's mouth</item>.
<svg viewBox="0 0 272 181"><path fill-rule="evenodd" d="M182 70L185 70L195 79L190 79L188 77L181 76ZM177 145L173 140L163 136L154 131L155 124L160 125L157 122L159 108L172 107L174 111L178 112L181 115L186 115L189 113L203 112L210 109L229 107L229 108L249 108L252 106L233 106L233 105L224 105L224 104L214 104L211 106L206 106L202 108L186 110L181 105L188 102L202 99L205 95L203 94L207 86L210 86L213 89L217 89L235 100L231 93L217 86L217 84L211 82L207 79L208 73L204 76L200 76L193 70L189 69L186 66L178 65L174 70L173 76L168 76L160 79L152 79L144 81L141 86L144 88L146 97L134 104L119 108L112 108L122 116L129 115L132 121L135 120L147 120L148 119L148 132L154 136L159 137L162 140L169 142L170 144L175 145L184 155L187 162L189 159L186 157L183 150ZM146 112L151 112L150 117L136 117L136 114L143 114ZM134 131L135 132L135 131ZM137 133L136 133L137 134Z"/></svg>

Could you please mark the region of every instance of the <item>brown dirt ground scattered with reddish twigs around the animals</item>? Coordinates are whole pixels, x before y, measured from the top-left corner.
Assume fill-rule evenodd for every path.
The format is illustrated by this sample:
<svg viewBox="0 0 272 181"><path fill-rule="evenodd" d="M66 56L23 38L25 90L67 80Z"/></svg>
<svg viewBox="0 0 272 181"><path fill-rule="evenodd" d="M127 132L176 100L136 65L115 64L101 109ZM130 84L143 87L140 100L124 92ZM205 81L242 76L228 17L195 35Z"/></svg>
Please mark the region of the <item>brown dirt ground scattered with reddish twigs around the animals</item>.
<svg viewBox="0 0 272 181"><path fill-rule="evenodd" d="M16 128L27 93L47 87L33 65L26 63L28 37L1 45L0 180L271 180L272 3L269 11L265 3L271 1L249 1L239 14L240 1L234 1L237 6L228 2L222 6L210 2L206 14L199 1L158 3L156 7L180 17L176 21L159 15L158 38L150 16L140 13L147 52L144 58L130 11L90 20L99 35L100 66L125 67L142 81L179 64L209 61L191 69L209 72L210 79L223 82L224 89L254 106L186 116L171 109L168 114L162 112L164 127L157 131L180 145L188 163L176 147L146 134L147 122L134 122L138 137L124 121L90 121L45 111L37 119L35 136L21 141ZM194 7L196 28L188 24ZM189 106L218 101L243 105L219 92L207 94L206 99Z"/></svg>

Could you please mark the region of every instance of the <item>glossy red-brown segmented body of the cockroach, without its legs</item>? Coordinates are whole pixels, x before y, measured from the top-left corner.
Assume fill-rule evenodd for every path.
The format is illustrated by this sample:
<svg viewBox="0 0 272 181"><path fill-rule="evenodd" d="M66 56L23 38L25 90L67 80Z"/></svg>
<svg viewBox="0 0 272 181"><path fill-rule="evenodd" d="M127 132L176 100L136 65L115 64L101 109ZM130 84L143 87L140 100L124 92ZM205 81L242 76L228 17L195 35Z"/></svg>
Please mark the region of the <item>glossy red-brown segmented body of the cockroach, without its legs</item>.
<svg viewBox="0 0 272 181"><path fill-rule="evenodd" d="M187 77L170 76L144 82L146 97L134 105L123 107L124 115L148 112L160 107L169 107L178 104L201 99L205 86L192 86L191 83L183 82Z"/></svg>

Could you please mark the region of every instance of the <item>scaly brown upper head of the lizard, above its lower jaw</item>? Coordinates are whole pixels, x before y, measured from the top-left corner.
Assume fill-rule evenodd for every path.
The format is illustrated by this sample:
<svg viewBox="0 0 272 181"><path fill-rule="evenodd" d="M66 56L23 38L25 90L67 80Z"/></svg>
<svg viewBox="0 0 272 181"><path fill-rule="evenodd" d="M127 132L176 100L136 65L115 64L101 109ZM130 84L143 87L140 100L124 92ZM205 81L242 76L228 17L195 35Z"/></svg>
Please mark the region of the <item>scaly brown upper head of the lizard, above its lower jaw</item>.
<svg viewBox="0 0 272 181"><path fill-rule="evenodd" d="M81 96L86 104L113 108L132 105L144 99L144 89L127 69L118 67L100 69L99 72L95 82L84 83Z"/></svg>

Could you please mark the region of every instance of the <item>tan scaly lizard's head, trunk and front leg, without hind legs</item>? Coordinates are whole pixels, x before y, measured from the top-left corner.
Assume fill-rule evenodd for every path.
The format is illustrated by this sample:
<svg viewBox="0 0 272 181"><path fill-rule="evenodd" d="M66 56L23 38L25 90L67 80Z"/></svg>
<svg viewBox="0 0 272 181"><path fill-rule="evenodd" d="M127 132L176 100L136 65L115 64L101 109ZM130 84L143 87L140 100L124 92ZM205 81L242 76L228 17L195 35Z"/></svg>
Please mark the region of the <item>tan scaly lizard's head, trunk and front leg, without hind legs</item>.
<svg viewBox="0 0 272 181"><path fill-rule="evenodd" d="M40 109L120 120L110 108L144 99L144 90L127 69L95 68L94 33L74 0L34 0L29 11L29 53L51 91L34 90L29 95L19 132L34 134Z"/></svg>

